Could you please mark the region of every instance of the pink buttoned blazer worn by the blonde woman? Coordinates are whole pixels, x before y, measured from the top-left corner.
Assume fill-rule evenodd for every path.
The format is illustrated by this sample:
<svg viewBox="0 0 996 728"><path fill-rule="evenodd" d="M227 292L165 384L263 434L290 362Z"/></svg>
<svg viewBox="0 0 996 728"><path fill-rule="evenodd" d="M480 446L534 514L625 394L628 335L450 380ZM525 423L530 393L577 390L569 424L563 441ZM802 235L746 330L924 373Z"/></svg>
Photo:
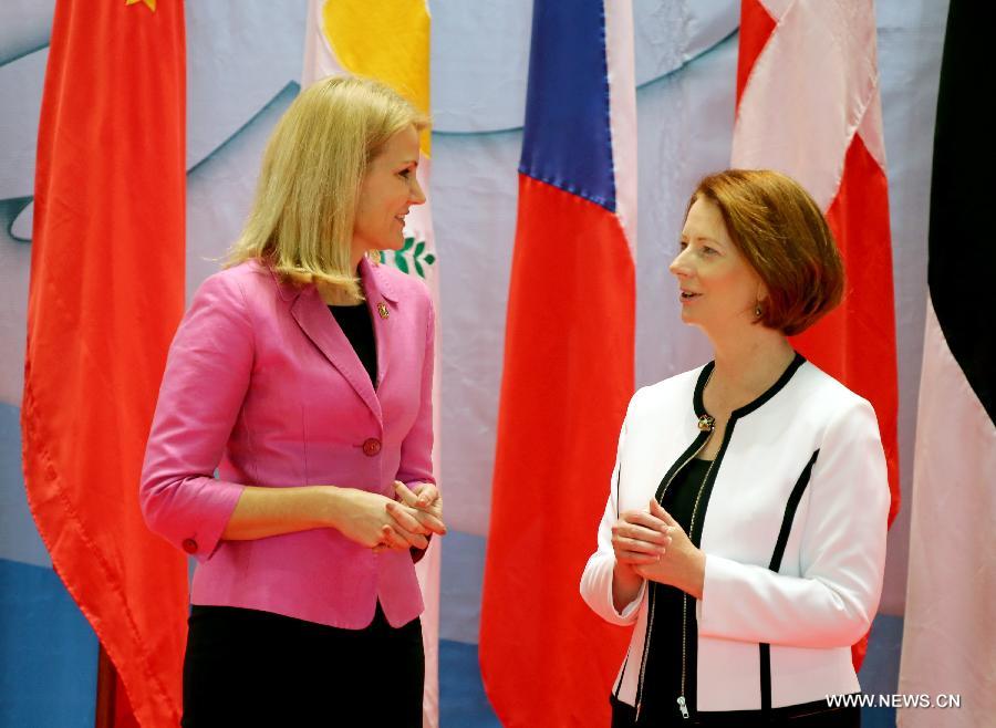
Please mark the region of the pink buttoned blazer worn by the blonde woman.
<svg viewBox="0 0 996 728"><path fill-rule="evenodd" d="M247 485L334 485L393 497L435 482L434 312L425 285L363 260L380 384L313 285L247 262L207 279L166 364L142 472L154 531L198 560L191 602L336 627L422 612L407 551L374 554L334 529L221 541ZM215 470L218 477L214 477Z"/></svg>

